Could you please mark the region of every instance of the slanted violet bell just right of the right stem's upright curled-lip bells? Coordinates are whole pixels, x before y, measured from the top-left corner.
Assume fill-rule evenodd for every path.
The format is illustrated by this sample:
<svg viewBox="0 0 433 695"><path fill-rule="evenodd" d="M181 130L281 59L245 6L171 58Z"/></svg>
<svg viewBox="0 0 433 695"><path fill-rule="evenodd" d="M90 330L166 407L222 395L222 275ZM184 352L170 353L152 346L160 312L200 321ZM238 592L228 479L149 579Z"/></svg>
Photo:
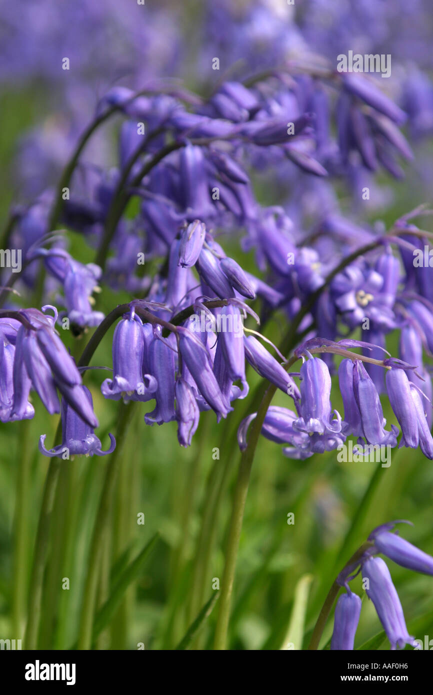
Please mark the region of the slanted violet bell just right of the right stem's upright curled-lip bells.
<svg viewBox="0 0 433 695"><path fill-rule="evenodd" d="M363 363L354 361L353 365L354 396L361 415L363 436L369 444L395 446L397 443L398 427L391 425L391 432L384 427L386 419L380 403L375 384L368 375Z"/></svg>

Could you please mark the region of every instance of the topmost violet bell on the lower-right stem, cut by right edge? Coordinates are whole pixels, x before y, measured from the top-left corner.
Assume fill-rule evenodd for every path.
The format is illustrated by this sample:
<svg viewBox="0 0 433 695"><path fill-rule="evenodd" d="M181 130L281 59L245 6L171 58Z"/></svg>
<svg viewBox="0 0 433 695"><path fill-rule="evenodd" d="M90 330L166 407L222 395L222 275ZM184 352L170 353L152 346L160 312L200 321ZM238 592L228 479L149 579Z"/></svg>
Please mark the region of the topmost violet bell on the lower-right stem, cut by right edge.
<svg viewBox="0 0 433 695"><path fill-rule="evenodd" d="M412 569L414 572L433 575L433 557L423 550L416 548L397 533L391 533L391 528L398 523L396 521L378 526L368 537L373 541L375 548L382 555L386 555L402 567Z"/></svg>

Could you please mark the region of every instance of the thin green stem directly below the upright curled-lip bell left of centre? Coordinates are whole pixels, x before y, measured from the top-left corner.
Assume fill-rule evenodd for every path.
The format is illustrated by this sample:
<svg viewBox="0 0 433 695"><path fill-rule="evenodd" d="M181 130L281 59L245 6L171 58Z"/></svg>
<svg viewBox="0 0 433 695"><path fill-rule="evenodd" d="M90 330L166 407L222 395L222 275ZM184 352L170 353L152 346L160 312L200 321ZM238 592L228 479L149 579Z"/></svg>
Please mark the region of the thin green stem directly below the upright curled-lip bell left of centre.
<svg viewBox="0 0 433 695"><path fill-rule="evenodd" d="M125 441L126 431L131 421L131 405L120 404L120 414L117 425L116 448L108 461L104 487L101 493L99 509L93 530L93 537L90 544L89 568L85 580L83 605L81 607L81 621L79 628L79 650L87 650L92 646L92 628L95 616L95 605L97 596L97 582L99 567L101 564L104 539L110 521L111 509L113 507L113 496L117 471L120 466L121 453Z"/></svg>

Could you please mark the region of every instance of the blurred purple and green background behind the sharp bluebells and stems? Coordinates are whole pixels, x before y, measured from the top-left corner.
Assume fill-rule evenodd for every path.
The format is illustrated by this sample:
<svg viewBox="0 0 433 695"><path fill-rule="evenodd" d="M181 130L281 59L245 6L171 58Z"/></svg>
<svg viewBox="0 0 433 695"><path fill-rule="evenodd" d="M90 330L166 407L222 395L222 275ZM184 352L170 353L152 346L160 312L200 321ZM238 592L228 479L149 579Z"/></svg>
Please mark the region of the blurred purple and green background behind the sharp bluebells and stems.
<svg viewBox="0 0 433 695"><path fill-rule="evenodd" d="M407 112L405 134L414 149L414 161L405 165L405 177L400 180L380 174L372 186L370 204L361 211L352 198L350 181L320 183L327 187L320 193L335 195L338 208L358 224L373 226L379 220L389 226L399 215L432 199L432 25L429 0L295 0L293 6L285 0L146 0L145 6L136 0L23 0L19 6L0 0L0 222L6 225L13 206L29 204L57 181L76 138L113 85L140 88L145 81L175 77L207 95L222 79L239 79L288 58L318 54L335 64L336 55L352 49L362 54L391 54L391 77L382 82ZM70 59L69 71L61 67L65 57ZM215 57L220 59L219 72L212 70ZM85 150L88 161L106 167L117 162L118 125L110 127L112 132L103 129L92 138ZM291 213L290 198L296 190L302 213L313 214L311 187L296 188L295 181L274 183L272 174L255 181L256 195L263 204L284 203ZM72 255L91 261L92 252L83 245L82 237L72 234L71 239ZM238 239L224 240L224 250L238 257ZM243 254L242 259L243 268L256 271L253 254ZM104 290L101 310L108 312L128 299L126 294ZM95 365L111 365L112 334L99 346ZM279 343L283 334L281 320L272 318L266 336ZM68 340L72 353L80 354L87 338L73 341L67 336ZM393 352L392 341L388 349ZM259 383L252 370L248 379L252 389ZM101 422L100 438L106 448L117 411L102 398L100 382L101 373L89 375ZM284 395L277 395L275 404L286 404ZM332 404L341 411L337 389ZM126 553L124 557L131 557L154 532L160 538L140 577L129 587L111 630L99 637L99 648L136 649L139 643L146 649L173 648L211 596L213 582L221 578L224 566L239 459L234 435L244 408L242 402L235 402L228 423L218 427L213 413L204 414L188 450L177 443L176 423L145 427L143 409L135 412L125 445L127 464L116 491L113 534L118 537L113 546ZM391 411L385 416L395 423ZM38 439L47 434L47 445L51 445L55 429L56 418L50 418L41 404L35 418L24 425L0 425L0 637L20 637L12 632L21 629L13 618L18 610L13 605L14 563L16 553L26 552L30 571L48 465L38 453ZM15 461L23 448L28 476L17 480ZM215 448L219 459L215 459ZM54 635L51 644L68 648L76 636L104 459L76 459L61 475L70 479L71 490L69 497L58 500L58 512L64 510L63 523L69 529L62 561L70 590L59 593L49 583L53 578L48 569L42 621L47 628L44 634ZM15 505L19 485L26 489L24 510ZM213 514L206 515L210 495L215 506ZM119 518L125 506L133 514ZM432 511L432 461L419 450L394 450L391 466L382 468L368 462L338 463L336 452L291 461L277 445L262 438L240 541L231 648L281 648L292 634L296 589L307 591L306 587L308 637L341 566L380 523L410 520L414 527L403 528L402 535L433 554ZM294 524L288 524L291 512ZM137 523L138 513L145 515L142 525ZM18 549L13 533L17 514L24 539ZM197 558L206 553L206 574L200 576ZM56 557L52 560L56 562ZM433 639L432 579L391 561L388 564L409 633ZM19 581L28 586L28 575ZM356 590L361 585L357 581ZM212 614L194 646L211 648L214 620ZM54 630L49 627L53 623ZM323 645L331 631L332 621ZM364 605L355 647L378 634L382 639L379 636L375 644L388 649L373 605ZM43 639L42 635L42 644Z"/></svg>

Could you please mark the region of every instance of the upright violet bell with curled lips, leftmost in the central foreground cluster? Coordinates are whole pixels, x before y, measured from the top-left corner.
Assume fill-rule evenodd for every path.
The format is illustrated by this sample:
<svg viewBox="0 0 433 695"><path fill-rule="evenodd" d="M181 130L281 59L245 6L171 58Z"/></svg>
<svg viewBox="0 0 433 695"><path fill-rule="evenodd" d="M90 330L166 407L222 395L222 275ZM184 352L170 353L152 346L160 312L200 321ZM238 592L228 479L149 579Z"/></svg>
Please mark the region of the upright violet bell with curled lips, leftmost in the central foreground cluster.
<svg viewBox="0 0 433 695"><path fill-rule="evenodd" d="M113 336L113 379L105 379L105 398L147 401L154 398L155 377L142 373L145 336L142 322L133 311L117 324Z"/></svg>

